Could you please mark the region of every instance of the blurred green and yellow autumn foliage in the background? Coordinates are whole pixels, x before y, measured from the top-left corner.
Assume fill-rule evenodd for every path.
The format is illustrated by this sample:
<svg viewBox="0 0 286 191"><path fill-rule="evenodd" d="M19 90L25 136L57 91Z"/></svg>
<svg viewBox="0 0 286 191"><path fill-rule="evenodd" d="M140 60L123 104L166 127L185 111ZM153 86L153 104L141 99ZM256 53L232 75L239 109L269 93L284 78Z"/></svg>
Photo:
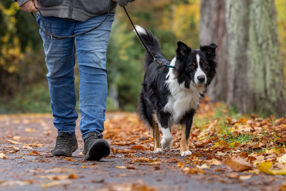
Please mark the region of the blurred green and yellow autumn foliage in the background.
<svg viewBox="0 0 286 191"><path fill-rule="evenodd" d="M226 12L223 11L226 4L224 0L208 2L214 6L212 14L203 12L203 8L200 10L203 0L138 0L128 4L126 9L135 24L150 29L158 37L168 59L175 56L177 41L198 49L200 40L206 44L208 36L219 45L218 55L223 55L228 48L224 46L226 31L220 26L225 25L223 17ZM285 4L284 0L275 1L283 63L286 57ZM208 34L206 39L199 38L201 33ZM0 2L0 50L0 113L51 112L45 55L38 26L29 13L20 10L11 0ZM108 111L135 111L144 76L144 52L124 10L118 7L107 52ZM226 65L223 62L226 61L220 57L220 66ZM283 68L285 70L286 66ZM226 83L224 69L219 68L214 84ZM77 65L75 74L78 88ZM225 92L226 89L219 91ZM222 95L218 97L223 100Z"/></svg>

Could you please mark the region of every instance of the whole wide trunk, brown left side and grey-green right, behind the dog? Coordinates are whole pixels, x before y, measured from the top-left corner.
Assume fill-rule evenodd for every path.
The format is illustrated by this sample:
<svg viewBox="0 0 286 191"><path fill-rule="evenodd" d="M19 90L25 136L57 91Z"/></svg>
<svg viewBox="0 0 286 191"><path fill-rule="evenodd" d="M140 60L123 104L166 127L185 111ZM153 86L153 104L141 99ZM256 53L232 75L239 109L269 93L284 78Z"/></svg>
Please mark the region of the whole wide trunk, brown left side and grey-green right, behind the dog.
<svg viewBox="0 0 286 191"><path fill-rule="evenodd" d="M241 113L285 115L274 1L201 0L200 24L201 44L221 46L211 101L225 101Z"/></svg>

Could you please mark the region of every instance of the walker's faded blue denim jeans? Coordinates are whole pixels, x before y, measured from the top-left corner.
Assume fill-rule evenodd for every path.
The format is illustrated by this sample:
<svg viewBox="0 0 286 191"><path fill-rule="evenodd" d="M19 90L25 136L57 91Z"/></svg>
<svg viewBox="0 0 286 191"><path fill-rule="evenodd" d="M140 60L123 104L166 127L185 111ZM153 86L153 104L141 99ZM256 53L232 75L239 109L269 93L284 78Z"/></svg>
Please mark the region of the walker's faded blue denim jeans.
<svg viewBox="0 0 286 191"><path fill-rule="evenodd" d="M44 17L46 28L56 36L70 36L97 26L106 14L91 18L85 22L67 20L58 17ZM46 75L51 97L51 109L54 126L60 131L74 134L78 113L75 93L75 54L80 74L79 128L82 139L88 133L97 132L102 136L104 130L107 69L106 49L109 41L114 14L109 13L100 27L68 39L51 39L40 30L46 55L48 74ZM41 17L37 22L43 27ZM76 41L76 43L75 43Z"/></svg>

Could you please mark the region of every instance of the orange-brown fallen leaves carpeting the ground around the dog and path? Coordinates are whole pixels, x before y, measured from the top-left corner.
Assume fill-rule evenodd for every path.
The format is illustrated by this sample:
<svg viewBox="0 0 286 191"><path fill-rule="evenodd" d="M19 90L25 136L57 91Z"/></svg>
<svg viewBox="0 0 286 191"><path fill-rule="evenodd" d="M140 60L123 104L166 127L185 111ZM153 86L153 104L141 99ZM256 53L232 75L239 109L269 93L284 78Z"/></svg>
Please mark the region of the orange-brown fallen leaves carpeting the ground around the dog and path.
<svg viewBox="0 0 286 191"><path fill-rule="evenodd" d="M107 118L105 122L104 137L110 140L111 154L107 158L118 157L126 161L124 166L115 166L121 171L137 171L140 165L150 165L150 170L164 170L171 168L184 174L214 174L223 171L229 179L249 180L258 174L286 175L286 119L276 119L274 116L262 118L258 115L229 116L226 109L221 110L222 117L216 117L221 103L212 106L208 102L200 105L197 123L193 125L189 137L189 148L192 155L188 158L180 156L180 127L172 130L173 144L168 152L152 152L154 142L152 133L139 121L135 114L118 115ZM200 123L199 121L204 121ZM27 122L27 121L26 121ZM20 122L14 120L13 123ZM43 123L45 124L45 123ZM45 124L47 125L47 124ZM50 131L45 127L45 131ZM37 134L36 129L26 128L26 132ZM29 143L23 135L13 135L6 131L6 142L10 146L1 146L0 159L9 158L8 154L19 154L23 149L35 149L45 147L42 142ZM11 140L13 139L13 140ZM34 139L31 139L34 140ZM15 146L20 145L21 147ZM7 154L6 153L6 154ZM29 155L42 155L38 150L29 151ZM79 154L82 155L82 154ZM45 162L45 159L39 161ZM66 157L61 161L79 162ZM175 165L173 165L175 164ZM97 168L98 165L80 165L79 169ZM31 169L34 176L47 180L53 180L42 184L42 187L65 185L76 179L74 169L54 168L50 170ZM46 173L39 175L38 173ZM60 173L60 174L52 174ZM64 174L61 174L64 173ZM125 176L124 173L121 174ZM120 175L118 175L120 176ZM214 175L215 176L215 175ZM73 178L71 178L73 177ZM219 179L219 176L218 176ZM27 184L31 182L18 184ZM2 186L4 182L0 183ZM11 184L13 184L11 182ZM16 182L14 184L17 184ZM8 185L6 181L6 185ZM283 184L284 185L284 184ZM131 185L122 185L132 188ZM142 186L144 187L144 185ZM285 186L284 186L285 187ZM282 187L281 187L282 188Z"/></svg>

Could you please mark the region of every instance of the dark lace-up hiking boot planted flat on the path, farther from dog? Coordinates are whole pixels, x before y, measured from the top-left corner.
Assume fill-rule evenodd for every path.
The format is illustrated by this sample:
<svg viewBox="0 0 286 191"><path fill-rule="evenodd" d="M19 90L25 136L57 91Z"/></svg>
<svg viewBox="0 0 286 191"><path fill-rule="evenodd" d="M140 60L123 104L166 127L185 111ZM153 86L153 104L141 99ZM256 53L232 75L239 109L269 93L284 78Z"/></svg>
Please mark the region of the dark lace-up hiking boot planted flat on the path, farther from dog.
<svg viewBox="0 0 286 191"><path fill-rule="evenodd" d="M57 136L56 146L51 151L53 156L71 157L78 148L78 141L71 133L60 132Z"/></svg>

